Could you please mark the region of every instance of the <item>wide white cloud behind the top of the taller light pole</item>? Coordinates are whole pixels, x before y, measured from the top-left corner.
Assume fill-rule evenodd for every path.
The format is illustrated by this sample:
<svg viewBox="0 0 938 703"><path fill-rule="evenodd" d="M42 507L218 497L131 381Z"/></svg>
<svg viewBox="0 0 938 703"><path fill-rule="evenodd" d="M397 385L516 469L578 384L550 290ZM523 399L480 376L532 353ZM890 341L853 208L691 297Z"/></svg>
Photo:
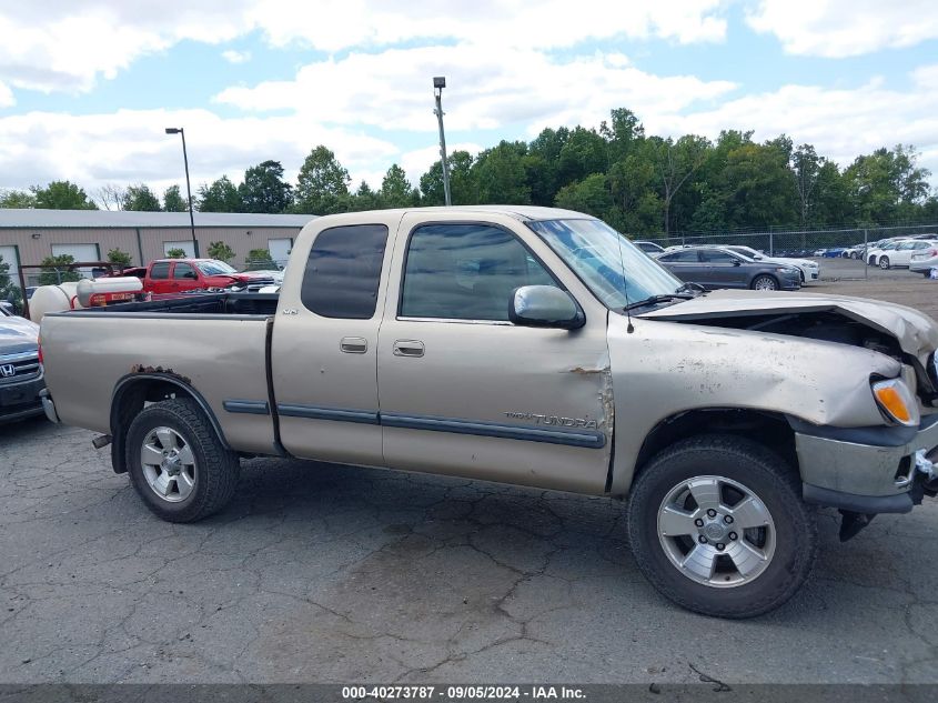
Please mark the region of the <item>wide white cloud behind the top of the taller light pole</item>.
<svg viewBox="0 0 938 703"><path fill-rule="evenodd" d="M670 113L735 88L728 81L646 73L619 53L554 61L531 48L460 44L351 53L305 66L294 80L229 88L215 100L255 112L294 110L326 123L433 131L431 77L440 74L447 81L446 128L454 131L598 124L622 106Z"/></svg>

